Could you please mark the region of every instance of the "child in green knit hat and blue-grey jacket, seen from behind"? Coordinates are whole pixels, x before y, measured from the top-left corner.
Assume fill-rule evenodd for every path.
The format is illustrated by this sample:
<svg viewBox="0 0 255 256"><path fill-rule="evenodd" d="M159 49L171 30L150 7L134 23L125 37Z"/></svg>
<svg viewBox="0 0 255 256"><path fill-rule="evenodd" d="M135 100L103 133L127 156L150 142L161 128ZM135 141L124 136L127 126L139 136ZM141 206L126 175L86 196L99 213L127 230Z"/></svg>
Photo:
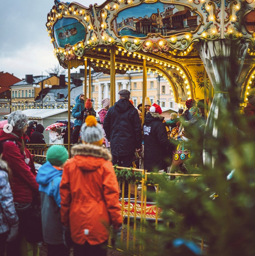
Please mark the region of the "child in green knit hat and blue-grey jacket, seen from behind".
<svg viewBox="0 0 255 256"><path fill-rule="evenodd" d="M69 249L64 245L63 230L60 218L59 185L63 173L63 165L68 159L68 152L61 145L53 145L46 155L47 162L43 164L36 177L41 195L41 216L43 240L47 243L48 255L69 255Z"/></svg>

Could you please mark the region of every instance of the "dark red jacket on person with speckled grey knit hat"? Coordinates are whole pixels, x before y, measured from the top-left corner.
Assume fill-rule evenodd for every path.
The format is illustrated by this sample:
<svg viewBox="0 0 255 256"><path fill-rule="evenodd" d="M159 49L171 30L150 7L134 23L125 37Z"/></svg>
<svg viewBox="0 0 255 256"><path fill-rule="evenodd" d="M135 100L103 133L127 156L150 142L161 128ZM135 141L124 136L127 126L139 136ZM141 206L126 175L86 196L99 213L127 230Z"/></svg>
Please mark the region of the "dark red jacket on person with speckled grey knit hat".
<svg viewBox="0 0 255 256"><path fill-rule="evenodd" d="M24 141L26 139L27 135L25 134ZM20 153L21 140L12 133L0 131L0 143L3 143L2 159L8 163L12 170L10 184L14 202L29 203L32 202L33 194L39 196L39 185L35 180L36 173L31 154L26 148L26 157L25 154ZM25 158L29 159L28 165Z"/></svg>

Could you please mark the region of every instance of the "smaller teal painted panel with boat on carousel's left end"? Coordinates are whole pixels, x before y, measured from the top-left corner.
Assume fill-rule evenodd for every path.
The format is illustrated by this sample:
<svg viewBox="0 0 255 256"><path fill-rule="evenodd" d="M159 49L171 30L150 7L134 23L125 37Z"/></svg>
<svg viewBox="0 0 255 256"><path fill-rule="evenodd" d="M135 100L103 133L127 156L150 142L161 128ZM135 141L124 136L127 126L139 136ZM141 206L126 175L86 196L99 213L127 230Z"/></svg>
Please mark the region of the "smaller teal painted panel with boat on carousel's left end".
<svg viewBox="0 0 255 256"><path fill-rule="evenodd" d="M53 30L55 39L62 48L68 43L74 45L85 37L84 26L75 18L62 18L58 20Z"/></svg>

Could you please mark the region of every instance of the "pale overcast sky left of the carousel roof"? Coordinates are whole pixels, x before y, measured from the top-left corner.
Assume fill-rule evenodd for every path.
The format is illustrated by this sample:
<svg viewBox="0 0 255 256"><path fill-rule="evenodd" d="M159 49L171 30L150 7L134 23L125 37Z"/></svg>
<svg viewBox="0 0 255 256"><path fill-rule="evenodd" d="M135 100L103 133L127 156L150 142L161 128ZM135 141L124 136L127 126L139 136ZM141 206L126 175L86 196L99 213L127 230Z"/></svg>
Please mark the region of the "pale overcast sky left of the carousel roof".
<svg viewBox="0 0 255 256"><path fill-rule="evenodd" d="M84 6L104 2L92 1L76 0ZM41 75L42 71L46 75L45 70L58 65L45 26L53 5L54 0L1 1L0 71L22 79L26 74Z"/></svg>

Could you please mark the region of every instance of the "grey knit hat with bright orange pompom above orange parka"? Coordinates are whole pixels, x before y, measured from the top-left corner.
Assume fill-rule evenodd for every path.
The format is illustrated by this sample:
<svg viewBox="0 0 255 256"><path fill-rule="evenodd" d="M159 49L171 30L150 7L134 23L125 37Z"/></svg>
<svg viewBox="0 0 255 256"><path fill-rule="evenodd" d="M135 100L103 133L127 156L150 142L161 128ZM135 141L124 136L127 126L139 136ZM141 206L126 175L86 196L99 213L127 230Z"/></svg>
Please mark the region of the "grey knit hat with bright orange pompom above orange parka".
<svg viewBox="0 0 255 256"><path fill-rule="evenodd" d="M86 118L80 130L82 132L81 139L86 143L94 144L95 142L101 141L104 137L102 126L96 121L93 115L89 115Z"/></svg>

